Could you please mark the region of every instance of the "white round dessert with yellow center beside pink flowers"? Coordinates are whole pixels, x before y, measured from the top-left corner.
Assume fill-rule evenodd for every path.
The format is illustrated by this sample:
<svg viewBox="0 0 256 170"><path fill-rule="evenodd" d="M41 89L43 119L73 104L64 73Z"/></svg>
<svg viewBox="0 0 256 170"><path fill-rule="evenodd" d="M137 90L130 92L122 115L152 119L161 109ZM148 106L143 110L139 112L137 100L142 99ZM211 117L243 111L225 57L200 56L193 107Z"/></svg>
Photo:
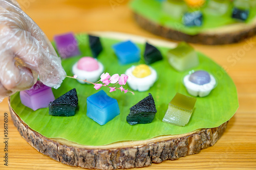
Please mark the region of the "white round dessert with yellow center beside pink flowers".
<svg viewBox="0 0 256 170"><path fill-rule="evenodd" d="M133 90L147 91L157 80L157 72L151 66L140 64L125 71L127 83Z"/></svg>

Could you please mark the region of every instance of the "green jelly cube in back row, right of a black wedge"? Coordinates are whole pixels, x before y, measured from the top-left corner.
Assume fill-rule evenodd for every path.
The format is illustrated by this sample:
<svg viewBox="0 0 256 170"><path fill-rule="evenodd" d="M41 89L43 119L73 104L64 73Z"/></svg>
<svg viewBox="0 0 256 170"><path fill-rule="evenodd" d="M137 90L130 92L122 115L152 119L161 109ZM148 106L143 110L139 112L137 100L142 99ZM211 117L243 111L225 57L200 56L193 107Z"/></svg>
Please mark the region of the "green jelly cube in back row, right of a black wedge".
<svg viewBox="0 0 256 170"><path fill-rule="evenodd" d="M194 48L181 42L167 53L169 64L178 71L184 71L199 65L198 55Z"/></svg>

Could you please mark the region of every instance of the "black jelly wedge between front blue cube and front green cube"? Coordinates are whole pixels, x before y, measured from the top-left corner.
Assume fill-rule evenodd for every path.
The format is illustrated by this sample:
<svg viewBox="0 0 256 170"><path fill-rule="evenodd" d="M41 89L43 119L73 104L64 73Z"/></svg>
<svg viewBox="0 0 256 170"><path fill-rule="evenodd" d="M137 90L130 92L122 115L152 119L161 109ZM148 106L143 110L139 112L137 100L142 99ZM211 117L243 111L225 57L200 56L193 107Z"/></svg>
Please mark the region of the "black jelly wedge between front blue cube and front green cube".
<svg viewBox="0 0 256 170"><path fill-rule="evenodd" d="M153 121L156 112L153 96L148 93L146 98L130 108L130 113L126 120L130 125L149 124Z"/></svg>

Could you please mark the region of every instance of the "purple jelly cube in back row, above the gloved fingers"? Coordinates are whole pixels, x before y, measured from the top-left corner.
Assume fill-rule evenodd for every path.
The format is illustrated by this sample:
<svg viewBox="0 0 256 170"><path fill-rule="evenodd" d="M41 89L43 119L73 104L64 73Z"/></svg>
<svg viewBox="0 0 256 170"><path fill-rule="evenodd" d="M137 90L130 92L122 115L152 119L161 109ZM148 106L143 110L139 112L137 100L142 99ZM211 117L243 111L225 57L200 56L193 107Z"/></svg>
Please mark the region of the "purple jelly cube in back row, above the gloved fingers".
<svg viewBox="0 0 256 170"><path fill-rule="evenodd" d="M54 40L60 57L69 58L81 54L73 33L56 35Z"/></svg>

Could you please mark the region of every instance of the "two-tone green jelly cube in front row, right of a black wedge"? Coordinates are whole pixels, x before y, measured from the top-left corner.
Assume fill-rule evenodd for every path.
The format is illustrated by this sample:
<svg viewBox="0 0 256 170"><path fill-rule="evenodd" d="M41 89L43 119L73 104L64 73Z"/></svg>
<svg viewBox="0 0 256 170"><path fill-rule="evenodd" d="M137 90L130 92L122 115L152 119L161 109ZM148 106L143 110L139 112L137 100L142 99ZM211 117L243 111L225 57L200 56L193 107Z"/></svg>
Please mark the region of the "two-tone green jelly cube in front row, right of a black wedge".
<svg viewBox="0 0 256 170"><path fill-rule="evenodd" d="M185 126L193 113L196 101L196 98L177 93L169 103L163 122Z"/></svg>

